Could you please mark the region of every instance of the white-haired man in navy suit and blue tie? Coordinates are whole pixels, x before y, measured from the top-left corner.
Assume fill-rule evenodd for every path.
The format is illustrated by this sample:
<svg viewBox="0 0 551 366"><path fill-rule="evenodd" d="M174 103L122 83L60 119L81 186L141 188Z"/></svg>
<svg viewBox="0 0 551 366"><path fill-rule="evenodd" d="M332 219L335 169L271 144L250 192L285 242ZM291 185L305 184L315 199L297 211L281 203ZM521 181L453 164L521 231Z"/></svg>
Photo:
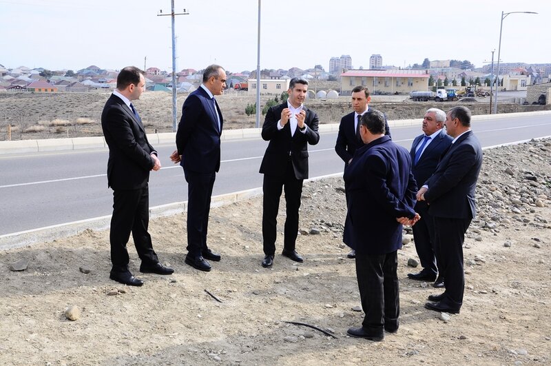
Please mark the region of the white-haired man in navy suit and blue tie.
<svg viewBox="0 0 551 366"><path fill-rule="evenodd" d="M413 162L411 171L417 183L424 183L436 170L440 156L452 143L452 138L443 130L446 113L437 108L426 111L421 134L413 140L410 156ZM435 256L433 217L428 214L425 201L415 203L415 212L421 215L419 222L413 227L415 249L421 261L423 270L419 273L409 273L408 277L419 281L435 281L434 287L444 287L444 278L437 272L439 259Z"/></svg>

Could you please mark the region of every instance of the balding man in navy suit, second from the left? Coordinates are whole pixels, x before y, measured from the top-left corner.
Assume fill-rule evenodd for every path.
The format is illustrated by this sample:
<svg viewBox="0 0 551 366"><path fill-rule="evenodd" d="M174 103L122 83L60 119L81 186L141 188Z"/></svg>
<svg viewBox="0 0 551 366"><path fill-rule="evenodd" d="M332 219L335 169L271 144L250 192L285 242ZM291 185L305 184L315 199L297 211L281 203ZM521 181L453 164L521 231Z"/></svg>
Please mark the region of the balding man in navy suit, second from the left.
<svg viewBox="0 0 551 366"><path fill-rule="evenodd" d="M202 84L184 102L176 132L176 148L171 161L180 163L187 181L187 255L185 263L201 271L210 271L205 261L220 261L220 254L207 246L207 227L212 188L220 169L222 112L214 99L226 88L226 72L210 65L202 74Z"/></svg>

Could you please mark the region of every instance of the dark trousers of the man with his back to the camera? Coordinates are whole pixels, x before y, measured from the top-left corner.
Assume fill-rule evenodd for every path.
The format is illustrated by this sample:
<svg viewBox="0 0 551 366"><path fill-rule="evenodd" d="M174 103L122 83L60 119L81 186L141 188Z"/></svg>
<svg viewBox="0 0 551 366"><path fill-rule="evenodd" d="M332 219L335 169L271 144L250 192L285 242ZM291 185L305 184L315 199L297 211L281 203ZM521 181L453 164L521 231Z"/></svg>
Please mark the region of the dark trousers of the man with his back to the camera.
<svg viewBox="0 0 551 366"><path fill-rule="evenodd" d="M372 336L397 329L400 312L397 251L365 254L356 250L356 276L365 317L362 327Z"/></svg>

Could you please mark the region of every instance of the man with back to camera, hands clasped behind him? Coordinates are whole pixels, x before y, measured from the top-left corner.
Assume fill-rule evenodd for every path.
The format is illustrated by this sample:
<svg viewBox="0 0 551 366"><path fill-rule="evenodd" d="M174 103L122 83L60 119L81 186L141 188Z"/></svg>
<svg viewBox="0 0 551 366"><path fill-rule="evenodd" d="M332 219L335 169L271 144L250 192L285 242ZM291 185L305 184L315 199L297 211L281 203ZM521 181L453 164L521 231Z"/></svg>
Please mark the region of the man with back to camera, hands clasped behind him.
<svg viewBox="0 0 551 366"><path fill-rule="evenodd" d="M365 317L354 337L380 341L384 330L395 333L399 322L397 250L402 225L413 225L417 186L408 151L384 135L384 115L369 110L362 116L356 150L344 171L350 200L347 223L356 247L356 276Z"/></svg>

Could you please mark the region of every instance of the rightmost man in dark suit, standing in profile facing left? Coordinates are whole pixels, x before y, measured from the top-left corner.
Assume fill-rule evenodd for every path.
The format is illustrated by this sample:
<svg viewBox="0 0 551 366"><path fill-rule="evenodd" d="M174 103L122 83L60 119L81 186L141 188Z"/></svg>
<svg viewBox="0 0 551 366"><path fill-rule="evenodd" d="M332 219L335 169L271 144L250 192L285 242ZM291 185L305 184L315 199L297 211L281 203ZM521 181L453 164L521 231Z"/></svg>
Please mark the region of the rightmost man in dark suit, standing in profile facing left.
<svg viewBox="0 0 551 366"><path fill-rule="evenodd" d="M480 143L470 130L470 110L452 108L446 115L446 131L453 137L448 152L435 173L417 192L417 201L426 201L435 223L435 250L446 291L430 295L425 307L437 312L458 314L463 304L465 274L463 242L475 217L475 188L482 166Z"/></svg>

